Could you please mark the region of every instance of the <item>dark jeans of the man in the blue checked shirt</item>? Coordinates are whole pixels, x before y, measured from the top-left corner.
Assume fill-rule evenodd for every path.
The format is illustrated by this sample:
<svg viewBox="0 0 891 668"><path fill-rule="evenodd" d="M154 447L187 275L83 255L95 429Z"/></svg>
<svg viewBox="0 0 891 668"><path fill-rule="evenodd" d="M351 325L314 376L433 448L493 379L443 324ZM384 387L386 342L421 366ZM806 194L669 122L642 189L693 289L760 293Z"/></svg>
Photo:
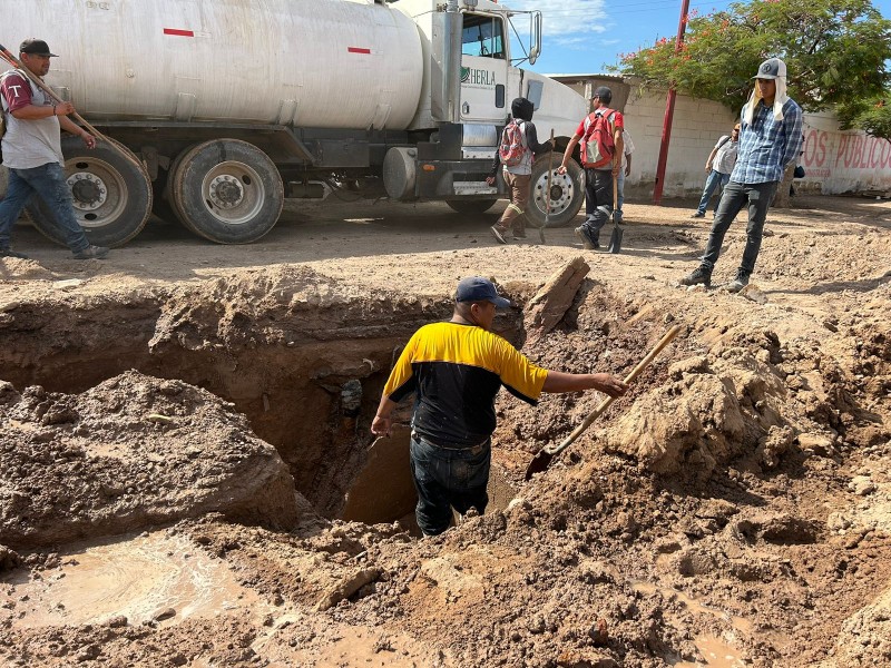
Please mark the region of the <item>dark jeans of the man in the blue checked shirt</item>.
<svg viewBox="0 0 891 668"><path fill-rule="evenodd" d="M740 184L731 181L724 188L724 195L718 203L715 212L715 222L712 224L712 233L708 235L708 245L705 247L705 255L702 258L702 267L711 272L715 267L717 256L721 254L721 245L724 243L724 235L727 233L731 223L736 218L736 214L747 204L748 225L745 228L746 242L743 250L743 262L740 271L746 276L755 271L755 261L761 250L761 238L764 232L764 220L767 218L767 207L771 206L773 195L780 181L768 181L766 184Z"/></svg>

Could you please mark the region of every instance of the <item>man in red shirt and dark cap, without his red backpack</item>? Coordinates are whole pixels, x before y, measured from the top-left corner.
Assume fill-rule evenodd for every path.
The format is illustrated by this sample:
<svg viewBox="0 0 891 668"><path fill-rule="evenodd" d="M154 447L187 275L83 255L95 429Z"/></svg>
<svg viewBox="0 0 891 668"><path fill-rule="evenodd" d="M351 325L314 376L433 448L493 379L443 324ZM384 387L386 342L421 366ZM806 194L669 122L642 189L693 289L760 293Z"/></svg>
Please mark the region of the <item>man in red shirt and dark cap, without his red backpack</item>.
<svg viewBox="0 0 891 668"><path fill-rule="evenodd" d="M564 153L564 160L557 174L566 174L566 164L572 157L576 144L586 136L587 130L596 118L606 116L607 122L613 128L614 159L606 165L593 166L586 161L586 151L581 151L581 164L585 167L585 223L576 227L576 236L581 239L581 245L588 249L599 248L600 228L607 224L613 215L613 179L618 177L621 168L621 156L625 151L623 131L625 118L619 111L609 109L613 101L613 91L606 86L600 86L594 91L591 107L594 111L581 119L578 129Z"/></svg>

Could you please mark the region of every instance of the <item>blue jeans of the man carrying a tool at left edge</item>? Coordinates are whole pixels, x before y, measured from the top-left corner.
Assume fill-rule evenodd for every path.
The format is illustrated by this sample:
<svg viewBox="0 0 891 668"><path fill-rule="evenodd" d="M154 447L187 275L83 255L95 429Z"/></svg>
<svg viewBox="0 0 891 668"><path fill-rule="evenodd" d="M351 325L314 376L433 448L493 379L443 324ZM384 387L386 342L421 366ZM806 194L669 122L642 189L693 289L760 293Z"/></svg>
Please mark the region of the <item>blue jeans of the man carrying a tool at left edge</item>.
<svg viewBox="0 0 891 668"><path fill-rule="evenodd" d="M65 243L74 253L90 245L75 217L71 190L65 181L62 166L47 163L31 169L9 170L9 189L6 199L0 202L0 248L9 248L12 226L35 194L47 205L52 220L65 236Z"/></svg>

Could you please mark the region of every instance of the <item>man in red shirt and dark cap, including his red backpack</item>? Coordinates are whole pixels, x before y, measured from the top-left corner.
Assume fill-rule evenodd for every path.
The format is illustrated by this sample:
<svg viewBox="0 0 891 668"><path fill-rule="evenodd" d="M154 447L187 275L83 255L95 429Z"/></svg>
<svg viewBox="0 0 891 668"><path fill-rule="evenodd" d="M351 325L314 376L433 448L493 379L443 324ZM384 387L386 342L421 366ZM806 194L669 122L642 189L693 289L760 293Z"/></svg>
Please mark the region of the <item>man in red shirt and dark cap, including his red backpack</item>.
<svg viewBox="0 0 891 668"><path fill-rule="evenodd" d="M581 165L585 167L585 223L576 227L576 236L587 249L599 248L600 228L613 215L613 179L618 178L621 155L625 150L623 130L625 119L607 105L613 91L600 86L594 91L594 111L576 129L564 153L557 174L566 174L566 164L572 157L576 144L581 141Z"/></svg>

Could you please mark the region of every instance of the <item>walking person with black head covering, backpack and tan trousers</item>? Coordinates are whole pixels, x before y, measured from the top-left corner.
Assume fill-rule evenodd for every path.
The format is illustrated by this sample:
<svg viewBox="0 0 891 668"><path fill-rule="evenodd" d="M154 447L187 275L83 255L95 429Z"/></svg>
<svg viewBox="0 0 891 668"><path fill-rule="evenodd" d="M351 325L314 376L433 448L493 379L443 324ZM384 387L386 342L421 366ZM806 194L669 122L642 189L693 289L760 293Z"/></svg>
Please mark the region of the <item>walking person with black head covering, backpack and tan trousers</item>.
<svg viewBox="0 0 891 668"><path fill-rule="evenodd" d="M486 183L495 185L498 168L503 165L505 183L510 188L510 204L501 214L501 219L492 227L492 236L499 244L507 244L508 232L513 230L515 239L526 238L526 207L532 185L532 159L551 150L550 141L538 143L538 132L532 122L535 105L526 98L517 98L510 104L513 116L501 132L501 145L495 156L492 171Z"/></svg>

